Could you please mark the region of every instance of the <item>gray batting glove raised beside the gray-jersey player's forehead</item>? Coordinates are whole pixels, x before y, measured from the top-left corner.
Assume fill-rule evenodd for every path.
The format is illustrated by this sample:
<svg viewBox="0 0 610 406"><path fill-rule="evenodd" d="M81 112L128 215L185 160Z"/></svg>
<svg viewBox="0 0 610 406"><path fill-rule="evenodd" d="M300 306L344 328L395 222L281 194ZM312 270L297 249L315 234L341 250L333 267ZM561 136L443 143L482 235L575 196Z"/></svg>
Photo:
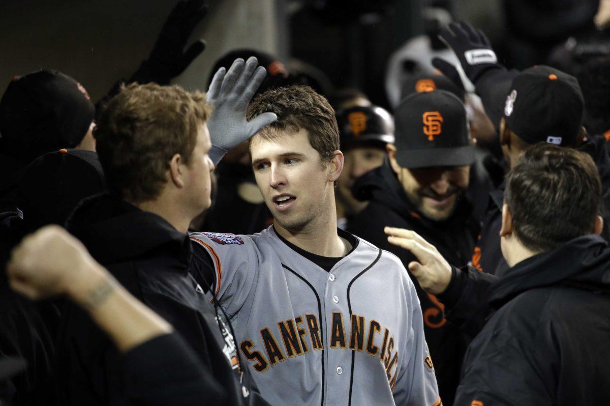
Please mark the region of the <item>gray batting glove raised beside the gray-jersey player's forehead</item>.
<svg viewBox="0 0 610 406"><path fill-rule="evenodd" d="M222 67L214 74L207 91L207 101L214 106L207 120L212 141L209 156L214 165L228 150L278 120L271 112L246 120L248 103L266 75L265 68L259 67L259 61L253 56L246 62L242 58L235 59L228 71Z"/></svg>

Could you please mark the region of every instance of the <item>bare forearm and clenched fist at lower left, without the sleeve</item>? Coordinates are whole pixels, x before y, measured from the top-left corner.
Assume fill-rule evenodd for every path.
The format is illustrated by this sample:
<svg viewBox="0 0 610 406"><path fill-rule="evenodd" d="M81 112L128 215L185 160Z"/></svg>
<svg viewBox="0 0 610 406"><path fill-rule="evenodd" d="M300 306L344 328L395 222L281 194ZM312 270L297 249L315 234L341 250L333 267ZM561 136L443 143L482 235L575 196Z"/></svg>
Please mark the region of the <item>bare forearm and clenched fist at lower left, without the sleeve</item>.
<svg viewBox="0 0 610 406"><path fill-rule="evenodd" d="M173 330L96 263L81 242L58 226L44 227L25 237L13 250L7 275L12 288L32 300L68 295L121 352Z"/></svg>

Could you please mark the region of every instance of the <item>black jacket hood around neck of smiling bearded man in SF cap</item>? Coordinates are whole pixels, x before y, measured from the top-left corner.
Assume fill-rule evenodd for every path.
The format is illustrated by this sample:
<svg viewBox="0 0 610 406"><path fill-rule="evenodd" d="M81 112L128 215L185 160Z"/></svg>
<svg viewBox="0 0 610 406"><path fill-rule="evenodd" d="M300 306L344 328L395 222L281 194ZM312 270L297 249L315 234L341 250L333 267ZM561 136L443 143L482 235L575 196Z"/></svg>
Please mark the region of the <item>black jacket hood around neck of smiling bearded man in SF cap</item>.
<svg viewBox="0 0 610 406"><path fill-rule="evenodd" d="M407 197L403 185L398 181L387 157L383 165L365 173L356 180L352 187L352 193L358 200L376 201L386 206L386 208L400 213L403 217L411 216L429 228L449 225L455 220L468 219L472 213L472 205L465 196L462 196L458 199L456 211L449 219L437 222L426 218Z"/></svg>

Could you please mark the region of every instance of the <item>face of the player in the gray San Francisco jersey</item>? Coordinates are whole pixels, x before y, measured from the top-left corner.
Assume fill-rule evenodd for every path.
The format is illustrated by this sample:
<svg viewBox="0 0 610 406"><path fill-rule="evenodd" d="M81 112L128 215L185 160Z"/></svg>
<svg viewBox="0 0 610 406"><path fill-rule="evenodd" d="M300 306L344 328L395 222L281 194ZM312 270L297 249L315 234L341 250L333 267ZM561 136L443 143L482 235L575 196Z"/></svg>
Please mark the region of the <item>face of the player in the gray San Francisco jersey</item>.
<svg viewBox="0 0 610 406"><path fill-rule="evenodd" d="M303 230L332 209L335 179L329 179L329 165L310 145L306 130L254 137L250 151L256 183L281 227Z"/></svg>

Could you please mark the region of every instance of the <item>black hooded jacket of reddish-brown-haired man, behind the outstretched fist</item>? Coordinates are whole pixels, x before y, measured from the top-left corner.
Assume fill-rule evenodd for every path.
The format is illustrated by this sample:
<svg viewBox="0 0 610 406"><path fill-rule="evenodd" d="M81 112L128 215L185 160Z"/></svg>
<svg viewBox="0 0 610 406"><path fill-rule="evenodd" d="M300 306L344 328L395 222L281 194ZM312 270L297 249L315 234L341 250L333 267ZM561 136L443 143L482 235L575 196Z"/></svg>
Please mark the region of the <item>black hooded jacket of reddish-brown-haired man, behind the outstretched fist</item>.
<svg viewBox="0 0 610 406"><path fill-rule="evenodd" d="M68 230L131 294L173 325L223 386L225 404L244 403L239 368L232 369L223 353L231 352L230 340L223 338L216 309L189 273L187 234L108 195L85 200L68 221ZM131 404L123 359L106 335L75 305L66 306L62 322L57 343L60 404ZM237 360L231 361L239 365ZM249 385L249 375L244 380ZM172 404L185 404L192 393L182 396Z"/></svg>

